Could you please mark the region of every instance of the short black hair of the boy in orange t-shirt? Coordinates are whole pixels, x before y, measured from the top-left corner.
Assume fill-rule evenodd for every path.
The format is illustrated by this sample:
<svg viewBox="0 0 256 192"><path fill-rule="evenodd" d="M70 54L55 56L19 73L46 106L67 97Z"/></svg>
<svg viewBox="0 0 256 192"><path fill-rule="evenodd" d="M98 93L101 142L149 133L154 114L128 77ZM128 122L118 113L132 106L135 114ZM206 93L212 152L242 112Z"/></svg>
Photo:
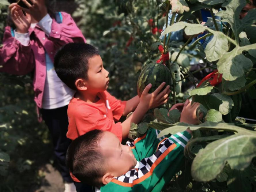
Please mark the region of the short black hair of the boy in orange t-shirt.
<svg viewBox="0 0 256 192"><path fill-rule="evenodd" d="M55 71L69 88L76 90L75 81L78 78L88 78L88 60L97 55L99 51L90 44L66 44L55 54Z"/></svg>

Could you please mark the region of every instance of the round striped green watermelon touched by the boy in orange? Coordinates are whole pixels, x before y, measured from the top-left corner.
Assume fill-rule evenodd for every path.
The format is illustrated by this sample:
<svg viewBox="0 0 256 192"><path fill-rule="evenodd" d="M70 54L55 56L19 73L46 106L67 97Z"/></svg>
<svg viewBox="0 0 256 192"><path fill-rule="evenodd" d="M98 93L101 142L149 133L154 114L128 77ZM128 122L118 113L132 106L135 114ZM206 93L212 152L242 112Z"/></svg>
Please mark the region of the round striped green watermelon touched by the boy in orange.
<svg viewBox="0 0 256 192"><path fill-rule="evenodd" d="M165 87L167 85L172 85L170 70L161 63L148 64L140 73L137 82L137 93L139 97L142 95L143 90L149 83L152 84L152 87L148 93L153 93L163 82L166 82ZM165 89L165 87L163 89Z"/></svg>

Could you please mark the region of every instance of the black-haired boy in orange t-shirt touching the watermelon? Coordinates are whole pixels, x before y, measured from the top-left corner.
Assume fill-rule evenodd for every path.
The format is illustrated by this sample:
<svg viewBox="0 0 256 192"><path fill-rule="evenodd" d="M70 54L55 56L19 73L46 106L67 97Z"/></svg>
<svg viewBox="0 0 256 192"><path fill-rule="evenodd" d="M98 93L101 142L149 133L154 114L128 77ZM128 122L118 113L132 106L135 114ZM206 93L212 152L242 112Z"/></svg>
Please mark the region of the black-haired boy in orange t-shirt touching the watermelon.
<svg viewBox="0 0 256 192"><path fill-rule="evenodd" d="M68 105L69 126L67 138L76 139L93 129L114 133L121 141L127 138L131 123L138 124L144 114L168 100L170 86L162 83L149 94L151 84L141 97L120 101L108 93L109 72L103 67L99 52L92 45L70 43L55 55L54 67L59 78L76 90ZM121 116L133 114L123 123L115 123Z"/></svg>

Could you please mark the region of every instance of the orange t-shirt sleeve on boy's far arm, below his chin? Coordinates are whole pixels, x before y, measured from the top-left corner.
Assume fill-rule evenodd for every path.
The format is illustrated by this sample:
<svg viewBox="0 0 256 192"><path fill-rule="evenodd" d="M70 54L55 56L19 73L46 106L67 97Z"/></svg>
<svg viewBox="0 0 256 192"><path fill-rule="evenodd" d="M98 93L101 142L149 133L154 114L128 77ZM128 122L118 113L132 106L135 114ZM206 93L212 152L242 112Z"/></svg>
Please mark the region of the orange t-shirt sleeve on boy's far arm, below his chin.
<svg viewBox="0 0 256 192"><path fill-rule="evenodd" d="M108 95L109 106L112 110L113 118L115 121L118 121L124 113L126 101L121 101L119 99L116 99L114 96L110 95L108 92L106 94Z"/></svg>

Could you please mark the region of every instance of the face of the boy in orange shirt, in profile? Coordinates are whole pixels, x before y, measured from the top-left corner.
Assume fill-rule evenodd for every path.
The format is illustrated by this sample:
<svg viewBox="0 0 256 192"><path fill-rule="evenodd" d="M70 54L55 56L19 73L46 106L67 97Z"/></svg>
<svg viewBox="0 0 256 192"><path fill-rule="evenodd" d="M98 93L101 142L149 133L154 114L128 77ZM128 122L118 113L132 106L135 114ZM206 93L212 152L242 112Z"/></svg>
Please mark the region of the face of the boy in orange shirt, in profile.
<svg viewBox="0 0 256 192"><path fill-rule="evenodd" d="M92 93L105 91L108 88L109 72L103 67L101 56L97 55L88 60L87 90Z"/></svg>

